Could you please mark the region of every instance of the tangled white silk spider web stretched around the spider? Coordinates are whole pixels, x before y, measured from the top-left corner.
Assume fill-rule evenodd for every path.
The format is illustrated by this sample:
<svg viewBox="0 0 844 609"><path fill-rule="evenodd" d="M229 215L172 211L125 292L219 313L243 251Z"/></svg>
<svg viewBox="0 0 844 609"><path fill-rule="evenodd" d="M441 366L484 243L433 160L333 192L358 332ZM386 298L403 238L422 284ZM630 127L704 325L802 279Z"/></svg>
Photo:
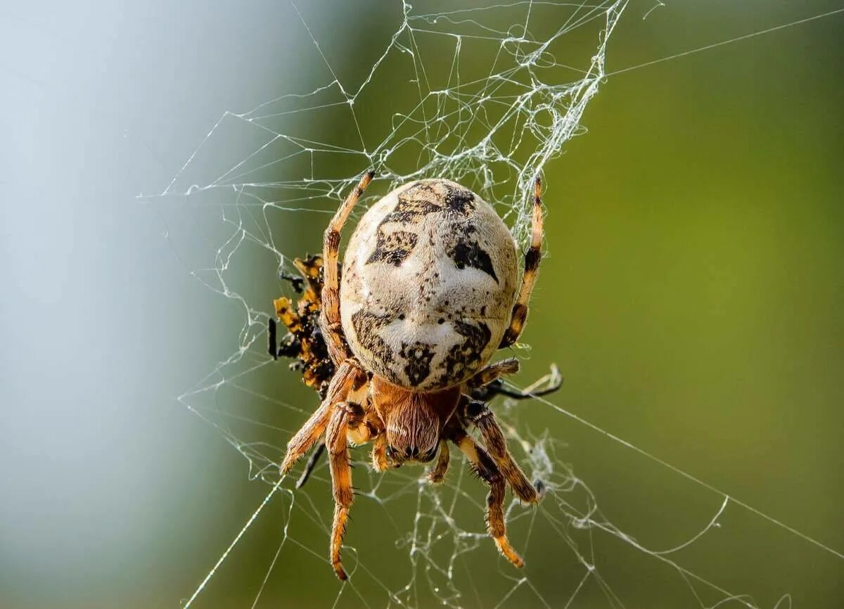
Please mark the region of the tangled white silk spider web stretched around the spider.
<svg viewBox="0 0 844 609"><path fill-rule="evenodd" d="M318 466L300 490L279 477L286 440L318 400L305 391L295 399L280 397L291 396L295 374L268 356L266 326L273 298L290 290L267 278L295 272L292 258L304 255L307 244L318 248L330 214L369 168L376 180L356 215L395 186L442 176L492 202L523 245L533 180L584 131L582 114L606 76L608 40L625 7L622 0L512 2L426 13L397 3L379 18L386 30L374 35L384 44L374 57L360 59L360 71L329 61L324 41L330 30L294 6L313 51L311 72L301 79L313 79L313 86L246 112L226 112L153 197L163 213L174 198L190 210L187 230L204 240L203 251L213 259L179 255L194 277L235 304L232 316L240 328L234 352L180 400L243 455L252 479L268 484L266 498L184 606L202 606L203 591L227 560L236 560L230 552L268 512L279 519L273 527L277 551L256 584L252 606L270 606L284 596L275 581L288 577L290 565L300 565L308 579L330 582L313 594L333 606L657 606L654 591L671 590L666 596L683 598L683 606L755 607L761 605L744 590L719 583L706 566L687 563L687 551L701 544L732 551L733 538L718 536L725 522L770 525L820 545L577 418L553 396L539 402L608 438L621 458L641 457L642 467L659 470L653 476L681 481L688 505L678 529L684 532L674 542L651 547L604 515L598 497L565 462L559 434L532 429L524 402L496 404L517 461L549 489L538 508L515 500L507 505L511 540L528 562L523 571L496 557L481 516L485 488L465 466L452 461L446 482L433 487L419 468L373 474L363 447L353 450L354 521L344 548L351 579L338 585L327 564L327 466ZM293 212L304 218L298 226L307 228L301 245L291 229ZM543 540L542 556L533 555L532 545ZM619 583L630 563L650 578L647 590ZM790 598L767 606L775 604L790 606Z"/></svg>

